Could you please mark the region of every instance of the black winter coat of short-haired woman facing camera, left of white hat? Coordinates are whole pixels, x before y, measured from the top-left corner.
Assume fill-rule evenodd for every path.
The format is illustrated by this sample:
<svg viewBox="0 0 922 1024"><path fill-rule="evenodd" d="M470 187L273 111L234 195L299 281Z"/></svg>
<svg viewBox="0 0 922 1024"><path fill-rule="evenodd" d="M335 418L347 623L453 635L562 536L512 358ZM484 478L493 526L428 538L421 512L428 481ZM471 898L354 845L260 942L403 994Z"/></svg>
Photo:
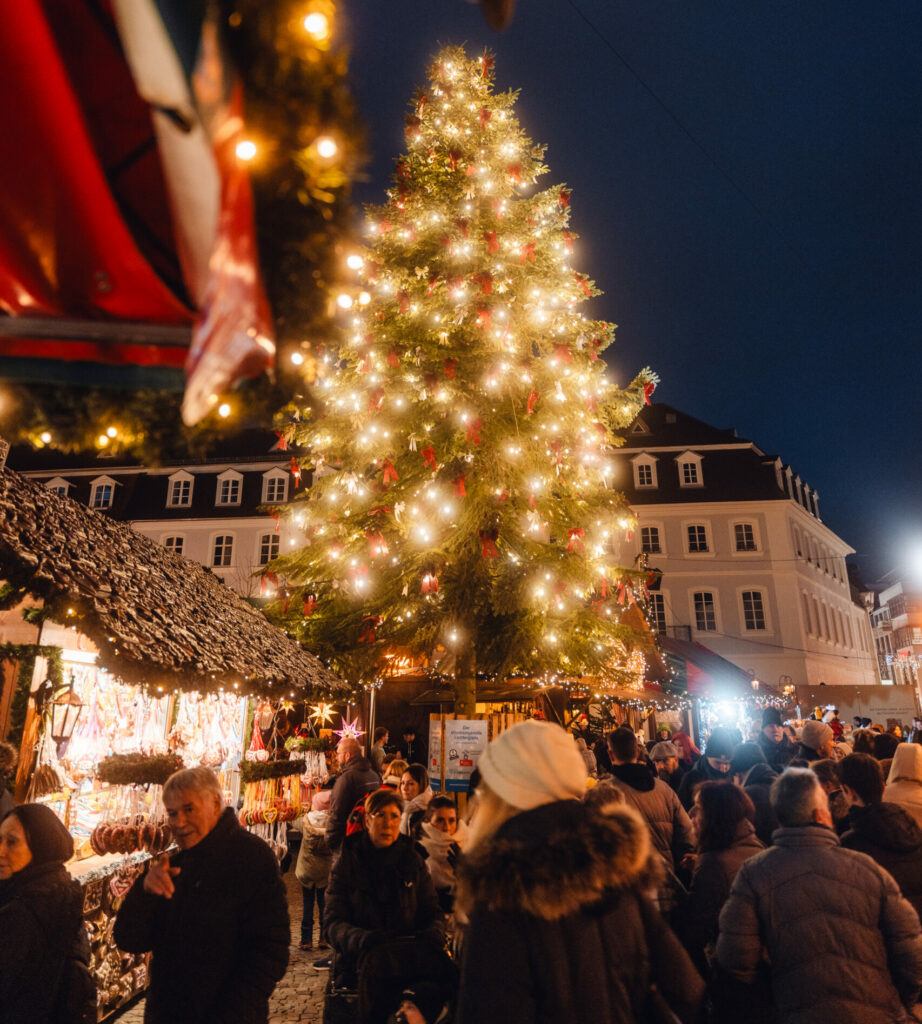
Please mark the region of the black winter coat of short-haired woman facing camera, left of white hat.
<svg viewBox="0 0 922 1024"><path fill-rule="evenodd" d="M327 886L324 931L339 954L336 978L354 987L362 954L401 936L442 942L442 910L432 877L409 836L377 848L367 831L348 836Z"/></svg>

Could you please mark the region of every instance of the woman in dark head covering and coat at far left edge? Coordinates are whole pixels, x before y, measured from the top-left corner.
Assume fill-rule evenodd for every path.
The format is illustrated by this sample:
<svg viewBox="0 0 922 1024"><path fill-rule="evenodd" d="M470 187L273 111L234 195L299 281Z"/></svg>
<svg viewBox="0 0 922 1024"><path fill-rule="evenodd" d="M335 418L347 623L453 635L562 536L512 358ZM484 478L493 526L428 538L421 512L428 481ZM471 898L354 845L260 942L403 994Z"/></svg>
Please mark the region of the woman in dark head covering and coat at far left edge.
<svg viewBox="0 0 922 1024"><path fill-rule="evenodd" d="M73 839L43 804L22 804L0 822L3 1024L96 1019L83 891L64 866L73 856Z"/></svg>

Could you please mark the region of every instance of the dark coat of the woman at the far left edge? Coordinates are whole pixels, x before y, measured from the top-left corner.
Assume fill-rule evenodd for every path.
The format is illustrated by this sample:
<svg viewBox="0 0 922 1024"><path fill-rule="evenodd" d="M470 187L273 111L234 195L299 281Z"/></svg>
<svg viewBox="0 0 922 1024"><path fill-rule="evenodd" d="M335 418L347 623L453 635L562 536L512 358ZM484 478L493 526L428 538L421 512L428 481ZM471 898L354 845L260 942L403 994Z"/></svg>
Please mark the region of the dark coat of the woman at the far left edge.
<svg viewBox="0 0 922 1024"><path fill-rule="evenodd" d="M56 862L0 882L0 1021L45 1024L69 955L89 964L80 883Z"/></svg>

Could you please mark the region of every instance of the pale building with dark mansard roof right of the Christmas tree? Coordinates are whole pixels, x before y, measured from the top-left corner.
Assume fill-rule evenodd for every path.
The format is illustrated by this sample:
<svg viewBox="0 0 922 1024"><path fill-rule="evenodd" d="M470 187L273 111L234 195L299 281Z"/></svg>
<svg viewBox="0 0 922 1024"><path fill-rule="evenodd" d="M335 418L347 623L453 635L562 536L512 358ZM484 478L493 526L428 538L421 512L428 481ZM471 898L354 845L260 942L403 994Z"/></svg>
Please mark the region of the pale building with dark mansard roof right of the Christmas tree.
<svg viewBox="0 0 922 1024"><path fill-rule="evenodd" d="M777 689L879 683L845 568L853 550L790 466L659 403L640 413L615 461L615 485L638 520L630 553L663 573L651 595L657 631Z"/></svg>

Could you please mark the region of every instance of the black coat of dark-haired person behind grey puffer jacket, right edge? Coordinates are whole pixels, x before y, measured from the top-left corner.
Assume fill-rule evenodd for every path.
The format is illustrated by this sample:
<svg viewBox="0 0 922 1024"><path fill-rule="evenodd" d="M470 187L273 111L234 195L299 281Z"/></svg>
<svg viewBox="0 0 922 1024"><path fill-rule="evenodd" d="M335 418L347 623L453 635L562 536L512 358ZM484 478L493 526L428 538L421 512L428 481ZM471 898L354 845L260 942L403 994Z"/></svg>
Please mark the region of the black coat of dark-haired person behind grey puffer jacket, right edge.
<svg viewBox="0 0 922 1024"><path fill-rule="evenodd" d="M852 807L842 836L846 850L867 853L893 880L922 918L922 828L896 804Z"/></svg>

